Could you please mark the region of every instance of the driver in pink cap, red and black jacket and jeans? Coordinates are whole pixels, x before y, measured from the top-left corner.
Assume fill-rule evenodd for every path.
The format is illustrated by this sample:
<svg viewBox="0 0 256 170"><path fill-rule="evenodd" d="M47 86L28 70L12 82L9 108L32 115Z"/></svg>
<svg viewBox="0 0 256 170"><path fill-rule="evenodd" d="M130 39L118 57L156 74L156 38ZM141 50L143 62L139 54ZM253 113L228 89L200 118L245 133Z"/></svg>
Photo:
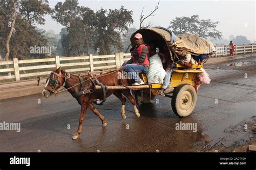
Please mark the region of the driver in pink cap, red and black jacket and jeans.
<svg viewBox="0 0 256 170"><path fill-rule="evenodd" d="M131 74L132 79L136 82L132 85L143 85L143 80L139 77L138 73L147 73L149 71L149 49L143 42L142 35L140 33L136 33L133 37L134 44L136 47L132 48L131 56L132 58L128 60L121 69L125 69L129 75Z"/></svg>

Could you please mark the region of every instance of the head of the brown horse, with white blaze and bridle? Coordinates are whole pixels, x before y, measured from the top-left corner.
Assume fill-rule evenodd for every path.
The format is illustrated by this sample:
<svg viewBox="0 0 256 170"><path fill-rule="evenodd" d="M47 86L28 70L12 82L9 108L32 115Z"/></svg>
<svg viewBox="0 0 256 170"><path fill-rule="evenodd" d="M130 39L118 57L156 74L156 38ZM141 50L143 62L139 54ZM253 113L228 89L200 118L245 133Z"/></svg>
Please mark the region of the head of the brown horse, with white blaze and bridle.
<svg viewBox="0 0 256 170"><path fill-rule="evenodd" d="M61 70L60 67L58 67L57 70L52 71L46 79L46 85L42 91L43 96L48 98L52 93L56 94L59 87L65 86L66 78L66 72Z"/></svg>

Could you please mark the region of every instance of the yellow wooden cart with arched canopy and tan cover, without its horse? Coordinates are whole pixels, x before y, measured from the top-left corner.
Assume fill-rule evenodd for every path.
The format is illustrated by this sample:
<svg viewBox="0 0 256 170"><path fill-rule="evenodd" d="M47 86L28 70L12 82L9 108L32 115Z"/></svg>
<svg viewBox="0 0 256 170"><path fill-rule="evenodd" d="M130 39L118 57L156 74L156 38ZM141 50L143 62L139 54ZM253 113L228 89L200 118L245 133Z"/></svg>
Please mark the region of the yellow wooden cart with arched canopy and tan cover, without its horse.
<svg viewBox="0 0 256 170"><path fill-rule="evenodd" d="M203 64L213 54L214 46L211 42L203 38L193 35L174 35L170 30L164 28L143 28L134 32L131 36L131 45L134 47L133 36L136 33L143 35L143 40L147 44L158 44L159 47L166 45L169 48L171 60L176 62L174 51L177 47L186 50L191 55L205 54L207 57L200 62L199 65L193 65L191 69L186 69L183 65L176 64L176 69L173 70L170 85L174 90L165 97L171 98L172 110L179 117L187 117L190 115L197 103L197 92L199 86L202 84L197 77L198 73L203 73L200 69ZM197 42L197 43L193 43ZM108 86L107 89L123 90L132 89L136 90L138 101L142 104L152 103L153 99L159 95L157 92L161 89L161 84L153 84L147 82L145 74L141 73L140 78L144 81L145 85L140 86ZM101 90L102 86L96 86L97 90Z"/></svg>

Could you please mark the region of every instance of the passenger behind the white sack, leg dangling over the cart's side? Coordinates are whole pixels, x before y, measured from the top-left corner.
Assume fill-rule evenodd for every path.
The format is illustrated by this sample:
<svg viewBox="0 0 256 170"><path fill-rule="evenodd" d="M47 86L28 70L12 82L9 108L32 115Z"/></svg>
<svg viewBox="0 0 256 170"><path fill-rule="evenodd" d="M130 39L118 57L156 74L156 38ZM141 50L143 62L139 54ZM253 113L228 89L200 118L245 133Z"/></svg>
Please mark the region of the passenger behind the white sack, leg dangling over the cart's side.
<svg viewBox="0 0 256 170"><path fill-rule="evenodd" d="M170 85L170 80L172 76L172 71L176 67L171 62L170 51L166 45L164 46L163 50L164 50L164 53L160 53L160 57L163 63L163 67L166 71L166 74L164 77L164 83L161 87L161 90L157 91L161 96L165 96L165 94L170 93L174 90L174 87Z"/></svg>

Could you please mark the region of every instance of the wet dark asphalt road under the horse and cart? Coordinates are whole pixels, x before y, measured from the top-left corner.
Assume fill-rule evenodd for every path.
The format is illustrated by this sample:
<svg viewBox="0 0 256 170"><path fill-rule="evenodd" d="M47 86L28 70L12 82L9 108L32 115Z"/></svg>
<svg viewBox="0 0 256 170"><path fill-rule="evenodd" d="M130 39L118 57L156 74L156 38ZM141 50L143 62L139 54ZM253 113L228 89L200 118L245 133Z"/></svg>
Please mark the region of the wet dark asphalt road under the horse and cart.
<svg viewBox="0 0 256 170"><path fill-rule="evenodd" d="M233 62L250 63L235 68L226 66ZM111 96L103 106L96 106L107 126L102 127L99 118L87 110L77 140L71 137L78 127L80 106L68 92L59 93L57 98L35 94L0 100L0 123L21 123L21 132L0 131L0 152L207 151L227 137L226 128L255 115L256 57L206 68L212 82L200 86L197 106L190 117L177 117L171 109L171 99L157 96L158 104L140 104L139 119L127 101L127 118L123 120L122 104ZM197 123L197 132L176 130L180 121ZM235 139L229 141L232 145Z"/></svg>

